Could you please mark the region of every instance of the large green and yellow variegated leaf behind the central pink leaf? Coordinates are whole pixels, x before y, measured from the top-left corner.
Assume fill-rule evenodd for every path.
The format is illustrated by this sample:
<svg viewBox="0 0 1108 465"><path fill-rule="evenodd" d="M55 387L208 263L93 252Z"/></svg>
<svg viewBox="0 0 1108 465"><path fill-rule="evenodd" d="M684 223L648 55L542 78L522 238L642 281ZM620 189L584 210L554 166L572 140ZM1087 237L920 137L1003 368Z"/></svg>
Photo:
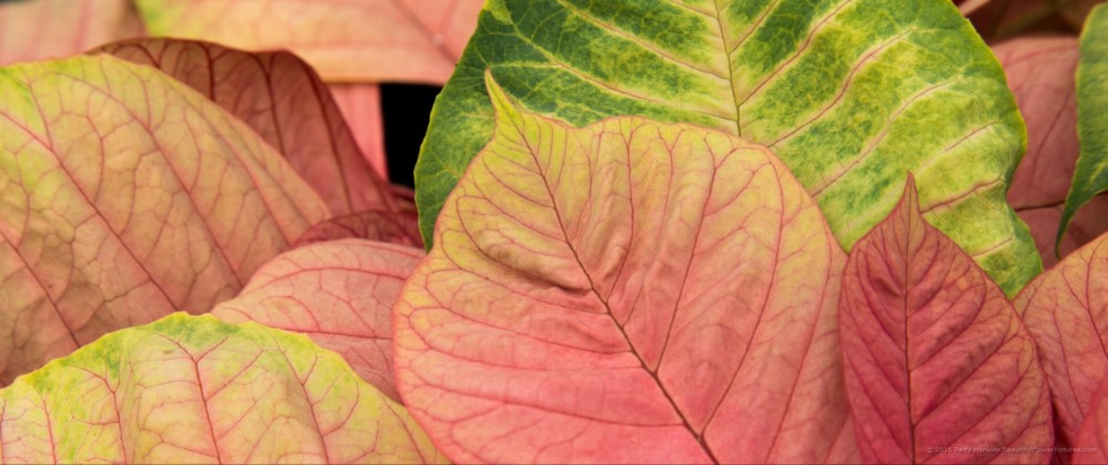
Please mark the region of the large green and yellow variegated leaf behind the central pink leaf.
<svg viewBox="0 0 1108 465"><path fill-rule="evenodd" d="M996 59L946 0L490 1L416 168L424 238L492 135L486 69L573 125L636 114L766 145L848 249L912 170L925 217L1005 291L1042 268L1004 200L1026 131Z"/></svg>

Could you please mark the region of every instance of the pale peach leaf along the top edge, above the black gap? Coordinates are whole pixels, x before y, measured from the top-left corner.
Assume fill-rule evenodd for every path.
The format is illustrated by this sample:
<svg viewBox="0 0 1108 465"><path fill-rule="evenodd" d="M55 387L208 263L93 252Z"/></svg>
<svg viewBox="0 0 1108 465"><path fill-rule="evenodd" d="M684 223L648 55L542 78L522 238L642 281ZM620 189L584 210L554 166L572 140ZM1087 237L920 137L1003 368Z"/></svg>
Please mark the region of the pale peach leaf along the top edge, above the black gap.
<svg viewBox="0 0 1108 465"><path fill-rule="evenodd" d="M135 0L154 35L288 49L327 81L442 84L480 0Z"/></svg>

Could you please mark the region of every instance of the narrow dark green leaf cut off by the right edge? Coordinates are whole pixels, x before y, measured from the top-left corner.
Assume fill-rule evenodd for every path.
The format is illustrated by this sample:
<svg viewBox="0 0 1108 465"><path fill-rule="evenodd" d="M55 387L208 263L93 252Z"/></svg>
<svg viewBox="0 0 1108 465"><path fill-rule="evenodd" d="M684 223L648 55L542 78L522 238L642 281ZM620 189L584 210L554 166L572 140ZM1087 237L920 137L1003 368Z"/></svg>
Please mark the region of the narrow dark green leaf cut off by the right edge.
<svg viewBox="0 0 1108 465"><path fill-rule="evenodd" d="M1077 158L1074 184L1066 196L1057 242L1074 215L1097 194L1108 190L1108 7L1092 10L1081 33L1081 59L1077 63Z"/></svg>

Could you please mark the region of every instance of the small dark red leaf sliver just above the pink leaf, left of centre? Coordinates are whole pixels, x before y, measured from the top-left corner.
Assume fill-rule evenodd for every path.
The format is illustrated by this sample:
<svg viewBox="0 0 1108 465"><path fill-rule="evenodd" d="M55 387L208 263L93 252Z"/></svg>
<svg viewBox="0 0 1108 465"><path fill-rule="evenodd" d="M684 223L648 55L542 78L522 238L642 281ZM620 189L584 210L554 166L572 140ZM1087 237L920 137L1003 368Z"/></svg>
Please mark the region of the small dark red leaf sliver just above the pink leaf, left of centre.
<svg viewBox="0 0 1108 465"><path fill-rule="evenodd" d="M366 210L328 219L304 232L293 247L347 238L423 247L423 239L419 235L419 215L413 211L382 210Z"/></svg>

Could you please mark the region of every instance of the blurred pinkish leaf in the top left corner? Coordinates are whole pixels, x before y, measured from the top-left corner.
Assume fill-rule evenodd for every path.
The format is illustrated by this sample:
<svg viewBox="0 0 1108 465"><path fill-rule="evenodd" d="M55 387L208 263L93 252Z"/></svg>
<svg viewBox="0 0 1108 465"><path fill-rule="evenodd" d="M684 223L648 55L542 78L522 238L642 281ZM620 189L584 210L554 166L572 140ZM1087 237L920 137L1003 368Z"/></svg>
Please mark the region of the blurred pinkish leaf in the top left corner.
<svg viewBox="0 0 1108 465"><path fill-rule="evenodd" d="M144 34L130 0L0 2L0 65L61 58Z"/></svg>

